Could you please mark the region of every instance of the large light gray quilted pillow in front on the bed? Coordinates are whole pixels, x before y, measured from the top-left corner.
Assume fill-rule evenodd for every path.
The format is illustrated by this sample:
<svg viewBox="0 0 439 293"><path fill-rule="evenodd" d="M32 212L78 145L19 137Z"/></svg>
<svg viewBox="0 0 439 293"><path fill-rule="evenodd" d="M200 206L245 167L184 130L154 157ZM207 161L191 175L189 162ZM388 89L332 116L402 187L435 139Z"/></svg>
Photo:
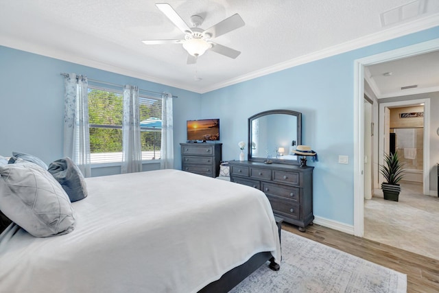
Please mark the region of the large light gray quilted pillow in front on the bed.
<svg viewBox="0 0 439 293"><path fill-rule="evenodd" d="M73 231L69 196L49 172L20 159L0 166L0 207L12 222L36 237Z"/></svg>

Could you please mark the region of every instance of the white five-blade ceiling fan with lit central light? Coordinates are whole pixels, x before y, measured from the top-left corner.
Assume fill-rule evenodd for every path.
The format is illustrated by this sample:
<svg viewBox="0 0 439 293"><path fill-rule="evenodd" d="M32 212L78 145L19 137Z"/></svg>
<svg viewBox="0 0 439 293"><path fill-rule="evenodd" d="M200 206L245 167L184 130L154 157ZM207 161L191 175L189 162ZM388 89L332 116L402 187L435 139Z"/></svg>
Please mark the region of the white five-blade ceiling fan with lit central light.
<svg viewBox="0 0 439 293"><path fill-rule="evenodd" d="M185 38L182 40L142 40L146 45L182 44L183 48L189 53L187 64L195 64L198 56L202 56L207 50L214 51L233 59L241 54L240 51L211 41L212 38L216 38L217 36L221 36L244 26L245 23L239 14L233 14L227 19L224 19L224 21L213 25L213 27L210 27L207 30L202 30L199 27L203 22L201 16L191 16L193 27L189 27L168 3L156 3L156 7L161 10L161 12L163 12L163 14L165 14L165 16L167 16L167 18L172 21L172 23L183 32L183 34L185 34Z"/></svg>

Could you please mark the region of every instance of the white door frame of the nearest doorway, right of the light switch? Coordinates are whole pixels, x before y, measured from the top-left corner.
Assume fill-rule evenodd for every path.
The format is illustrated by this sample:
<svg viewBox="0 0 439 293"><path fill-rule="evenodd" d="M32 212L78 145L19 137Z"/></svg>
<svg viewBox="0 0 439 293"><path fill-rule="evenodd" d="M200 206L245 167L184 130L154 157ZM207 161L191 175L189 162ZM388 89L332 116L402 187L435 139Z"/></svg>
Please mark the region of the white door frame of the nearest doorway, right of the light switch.
<svg viewBox="0 0 439 293"><path fill-rule="evenodd" d="M364 67L439 49L439 38L357 59L354 62L354 235L364 235ZM428 164L428 163L427 163ZM424 178L428 174L424 174Z"/></svg>

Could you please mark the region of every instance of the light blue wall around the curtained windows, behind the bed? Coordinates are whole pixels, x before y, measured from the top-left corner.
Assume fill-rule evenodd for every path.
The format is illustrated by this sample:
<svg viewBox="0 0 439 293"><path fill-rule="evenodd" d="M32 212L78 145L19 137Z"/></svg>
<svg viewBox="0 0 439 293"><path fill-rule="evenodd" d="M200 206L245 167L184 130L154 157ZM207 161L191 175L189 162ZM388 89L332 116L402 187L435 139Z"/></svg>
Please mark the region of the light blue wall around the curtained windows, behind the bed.
<svg viewBox="0 0 439 293"><path fill-rule="evenodd" d="M180 168L178 142L186 141L186 120L200 116L200 94L125 75L47 58L0 46L0 154L34 154L46 163L62 158L64 78L79 73L93 80L134 84L140 89L177 95L174 99L175 167ZM158 164L143 169L157 169ZM120 173L120 167L93 169L93 176Z"/></svg>

